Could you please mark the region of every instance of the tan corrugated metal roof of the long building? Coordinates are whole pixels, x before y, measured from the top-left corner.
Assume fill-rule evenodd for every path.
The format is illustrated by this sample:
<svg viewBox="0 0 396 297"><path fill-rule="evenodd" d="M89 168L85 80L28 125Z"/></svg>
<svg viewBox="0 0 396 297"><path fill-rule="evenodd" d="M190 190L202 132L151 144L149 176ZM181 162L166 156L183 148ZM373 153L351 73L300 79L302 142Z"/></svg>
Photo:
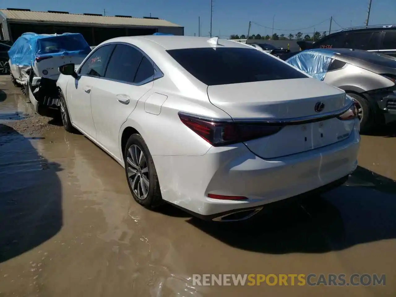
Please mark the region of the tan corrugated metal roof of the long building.
<svg viewBox="0 0 396 297"><path fill-rule="evenodd" d="M23 11L1 9L8 20L14 21L42 21L54 23L78 23L86 25L110 26L154 26L181 27L163 19L143 19L137 17L112 17L99 15L83 15L75 13L54 13L46 11Z"/></svg>

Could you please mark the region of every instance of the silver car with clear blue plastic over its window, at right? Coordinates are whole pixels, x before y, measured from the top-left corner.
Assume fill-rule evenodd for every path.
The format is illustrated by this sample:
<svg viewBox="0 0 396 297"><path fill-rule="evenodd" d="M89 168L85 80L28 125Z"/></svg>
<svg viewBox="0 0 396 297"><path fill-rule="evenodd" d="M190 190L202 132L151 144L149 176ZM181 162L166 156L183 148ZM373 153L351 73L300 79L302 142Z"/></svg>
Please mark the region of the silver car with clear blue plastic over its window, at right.
<svg viewBox="0 0 396 297"><path fill-rule="evenodd" d="M286 62L355 99L362 132L396 119L394 57L360 49L308 49Z"/></svg>

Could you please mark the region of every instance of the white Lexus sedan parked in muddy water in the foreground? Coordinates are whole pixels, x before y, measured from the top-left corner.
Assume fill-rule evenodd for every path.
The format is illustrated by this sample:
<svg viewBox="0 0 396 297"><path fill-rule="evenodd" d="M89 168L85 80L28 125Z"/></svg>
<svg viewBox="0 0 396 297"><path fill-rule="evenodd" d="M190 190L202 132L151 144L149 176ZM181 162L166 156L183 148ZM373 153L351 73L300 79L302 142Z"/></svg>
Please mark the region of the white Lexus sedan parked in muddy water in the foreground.
<svg viewBox="0 0 396 297"><path fill-rule="evenodd" d="M147 208L242 220L337 187L357 166L350 97L245 44L119 37L60 72L65 129L120 163Z"/></svg>

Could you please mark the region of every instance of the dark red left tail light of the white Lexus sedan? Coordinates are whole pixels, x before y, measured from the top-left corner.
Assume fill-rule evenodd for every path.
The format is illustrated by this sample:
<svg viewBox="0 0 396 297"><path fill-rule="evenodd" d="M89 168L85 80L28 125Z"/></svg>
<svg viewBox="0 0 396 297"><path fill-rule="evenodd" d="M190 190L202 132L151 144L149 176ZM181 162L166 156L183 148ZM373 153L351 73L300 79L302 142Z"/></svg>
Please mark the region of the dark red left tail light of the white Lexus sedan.
<svg viewBox="0 0 396 297"><path fill-rule="evenodd" d="M260 122L211 120L179 112L179 118L188 128L214 147L241 143L278 133L284 126Z"/></svg>

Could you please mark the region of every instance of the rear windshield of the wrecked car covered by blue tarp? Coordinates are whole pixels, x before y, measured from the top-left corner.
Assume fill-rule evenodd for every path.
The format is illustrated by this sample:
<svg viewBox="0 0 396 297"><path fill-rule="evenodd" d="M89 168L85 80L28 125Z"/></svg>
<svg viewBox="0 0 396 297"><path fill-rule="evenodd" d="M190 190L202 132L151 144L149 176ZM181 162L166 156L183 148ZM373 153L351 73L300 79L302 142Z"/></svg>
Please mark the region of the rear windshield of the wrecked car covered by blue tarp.
<svg viewBox="0 0 396 297"><path fill-rule="evenodd" d="M91 48L82 35L64 35L42 38L37 40L37 53L59 53L61 51L90 52Z"/></svg>

